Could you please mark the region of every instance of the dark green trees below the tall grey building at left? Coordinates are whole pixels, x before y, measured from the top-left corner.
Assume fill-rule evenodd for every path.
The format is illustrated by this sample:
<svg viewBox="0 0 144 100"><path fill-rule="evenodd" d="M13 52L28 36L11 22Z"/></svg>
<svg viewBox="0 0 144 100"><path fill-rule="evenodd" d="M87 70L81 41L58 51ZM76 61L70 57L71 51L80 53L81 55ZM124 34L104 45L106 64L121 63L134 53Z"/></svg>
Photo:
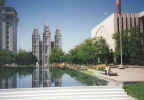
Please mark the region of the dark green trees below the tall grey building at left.
<svg viewBox="0 0 144 100"><path fill-rule="evenodd" d="M36 57L31 52L21 50L19 53L13 53L8 50L0 51L0 65L16 63L18 65L30 65L36 63Z"/></svg>

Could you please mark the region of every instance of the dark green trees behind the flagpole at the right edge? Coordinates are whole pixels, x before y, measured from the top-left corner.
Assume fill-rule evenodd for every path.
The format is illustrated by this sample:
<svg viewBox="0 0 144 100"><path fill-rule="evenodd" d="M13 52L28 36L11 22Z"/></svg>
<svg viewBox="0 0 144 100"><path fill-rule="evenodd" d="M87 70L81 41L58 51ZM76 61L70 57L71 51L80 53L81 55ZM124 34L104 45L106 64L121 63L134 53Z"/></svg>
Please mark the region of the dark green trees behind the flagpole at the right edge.
<svg viewBox="0 0 144 100"><path fill-rule="evenodd" d="M113 39L116 41L114 54L120 62L120 33L115 33ZM143 40L144 36L140 33L139 28L137 27L122 32L122 56L125 64L130 64L131 62L134 63L136 60L144 60Z"/></svg>

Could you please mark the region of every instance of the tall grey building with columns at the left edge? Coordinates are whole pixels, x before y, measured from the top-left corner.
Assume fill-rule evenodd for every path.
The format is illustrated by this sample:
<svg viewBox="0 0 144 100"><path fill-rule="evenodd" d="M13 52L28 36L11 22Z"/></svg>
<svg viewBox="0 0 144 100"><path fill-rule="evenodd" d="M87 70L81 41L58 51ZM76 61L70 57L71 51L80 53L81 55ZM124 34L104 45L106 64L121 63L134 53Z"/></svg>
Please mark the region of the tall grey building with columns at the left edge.
<svg viewBox="0 0 144 100"><path fill-rule="evenodd" d="M0 1L0 50L17 51L18 16L15 8Z"/></svg>

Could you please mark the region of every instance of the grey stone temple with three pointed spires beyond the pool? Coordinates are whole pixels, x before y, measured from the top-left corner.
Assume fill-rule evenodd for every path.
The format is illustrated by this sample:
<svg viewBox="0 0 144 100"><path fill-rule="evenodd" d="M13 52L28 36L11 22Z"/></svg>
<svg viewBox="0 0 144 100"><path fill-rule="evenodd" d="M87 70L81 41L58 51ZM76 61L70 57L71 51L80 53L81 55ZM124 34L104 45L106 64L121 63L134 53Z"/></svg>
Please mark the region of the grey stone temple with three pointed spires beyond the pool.
<svg viewBox="0 0 144 100"><path fill-rule="evenodd" d="M48 66L48 60L52 48L62 49L62 38L59 29L56 29L55 40L51 40L49 25L44 25L44 32L40 35L38 27L32 33L32 53L43 67Z"/></svg>

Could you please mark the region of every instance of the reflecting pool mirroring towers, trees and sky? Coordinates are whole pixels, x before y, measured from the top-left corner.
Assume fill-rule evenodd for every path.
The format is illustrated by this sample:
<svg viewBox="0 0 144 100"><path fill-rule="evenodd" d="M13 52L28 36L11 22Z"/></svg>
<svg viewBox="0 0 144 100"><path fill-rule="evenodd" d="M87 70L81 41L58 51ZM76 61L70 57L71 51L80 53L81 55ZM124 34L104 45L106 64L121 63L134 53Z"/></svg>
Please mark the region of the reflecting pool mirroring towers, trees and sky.
<svg viewBox="0 0 144 100"><path fill-rule="evenodd" d="M106 84L104 80L69 69L0 68L0 89Z"/></svg>

